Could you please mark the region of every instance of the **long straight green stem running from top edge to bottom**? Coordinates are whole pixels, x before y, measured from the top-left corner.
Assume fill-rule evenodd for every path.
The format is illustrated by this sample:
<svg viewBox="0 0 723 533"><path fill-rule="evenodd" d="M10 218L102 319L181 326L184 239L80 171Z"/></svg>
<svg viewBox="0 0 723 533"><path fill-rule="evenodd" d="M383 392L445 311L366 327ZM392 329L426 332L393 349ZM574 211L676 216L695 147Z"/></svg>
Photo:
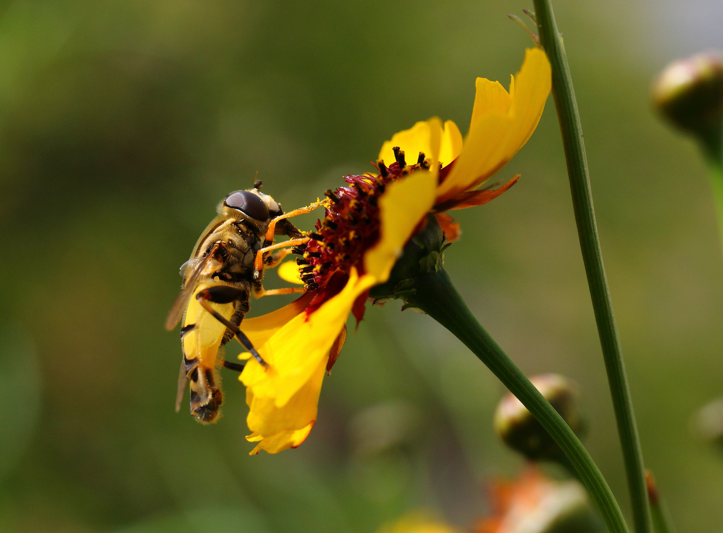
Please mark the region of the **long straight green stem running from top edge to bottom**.
<svg viewBox="0 0 723 533"><path fill-rule="evenodd" d="M568 68L568 59L557 32L555 16L550 0L533 0L536 22L542 44L552 65L552 95L555 98L557 117L560 120L562 144L568 163L568 177L573 197L573 208L578 226L578 236L587 274L590 296L597 323L602 354L607 370L607 380L617 419L617 431L623 448L628 489L633 504L633 521L636 533L651 532L651 515L643 474L643 454L638 438L633 402L630 399L628 377L625 374L620 338L612 312L612 302L607 278L602 264L602 252L597 236L595 213L590 192L585 145L580 116Z"/></svg>

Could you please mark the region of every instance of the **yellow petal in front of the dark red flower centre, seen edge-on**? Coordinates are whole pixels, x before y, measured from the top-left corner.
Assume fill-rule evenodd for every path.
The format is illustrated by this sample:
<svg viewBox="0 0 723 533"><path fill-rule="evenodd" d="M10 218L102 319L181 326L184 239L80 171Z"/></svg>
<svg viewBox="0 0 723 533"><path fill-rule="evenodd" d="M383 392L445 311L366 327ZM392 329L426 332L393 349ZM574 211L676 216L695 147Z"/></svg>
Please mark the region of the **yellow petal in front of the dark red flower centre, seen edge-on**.
<svg viewBox="0 0 723 533"><path fill-rule="evenodd" d="M437 173L416 171L388 185L379 199L380 238L364 254L364 268L377 283L389 278L404 244L435 203Z"/></svg>

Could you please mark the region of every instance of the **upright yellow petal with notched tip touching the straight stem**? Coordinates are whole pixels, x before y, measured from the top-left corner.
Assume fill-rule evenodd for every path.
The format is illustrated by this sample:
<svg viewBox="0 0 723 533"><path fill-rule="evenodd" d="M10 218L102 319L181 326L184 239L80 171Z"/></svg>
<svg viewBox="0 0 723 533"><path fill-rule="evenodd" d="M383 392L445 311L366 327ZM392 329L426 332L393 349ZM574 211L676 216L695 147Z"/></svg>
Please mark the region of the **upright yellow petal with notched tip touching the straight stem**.
<svg viewBox="0 0 723 533"><path fill-rule="evenodd" d="M474 189L518 152L542 116L551 86L547 56L539 48L526 51L520 72L510 84L509 106L501 86L478 81L478 98L469 134L454 169L437 189L437 203Z"/></svg>

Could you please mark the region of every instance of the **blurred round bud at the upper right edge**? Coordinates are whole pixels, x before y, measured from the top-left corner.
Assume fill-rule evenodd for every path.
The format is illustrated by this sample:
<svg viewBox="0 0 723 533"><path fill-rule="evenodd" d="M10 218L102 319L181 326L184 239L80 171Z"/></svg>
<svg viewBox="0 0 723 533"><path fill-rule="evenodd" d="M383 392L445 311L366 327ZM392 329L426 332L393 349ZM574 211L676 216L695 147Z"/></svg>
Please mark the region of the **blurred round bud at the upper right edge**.
<svg viewBox="0 0 723 533"><path fill-rule="evenodd" d="M723 55L709 51L673 61L655 80L653 101L672 124L713 147L723 124Z"/></svg>

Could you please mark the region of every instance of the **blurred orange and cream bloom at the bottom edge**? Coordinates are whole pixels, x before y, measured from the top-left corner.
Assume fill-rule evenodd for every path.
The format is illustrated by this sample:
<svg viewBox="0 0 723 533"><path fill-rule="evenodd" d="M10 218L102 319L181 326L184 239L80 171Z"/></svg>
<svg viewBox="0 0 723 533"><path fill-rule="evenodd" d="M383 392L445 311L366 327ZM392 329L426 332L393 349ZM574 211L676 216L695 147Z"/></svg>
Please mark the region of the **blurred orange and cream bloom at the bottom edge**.
<svg viewBox="0 0 723 533"><path fill-rule="evenodd" d="M515 482L497 482L492 490L492 516L476 533L603 533L585 488L576 480L557 481L529 466Z"/></svg>

